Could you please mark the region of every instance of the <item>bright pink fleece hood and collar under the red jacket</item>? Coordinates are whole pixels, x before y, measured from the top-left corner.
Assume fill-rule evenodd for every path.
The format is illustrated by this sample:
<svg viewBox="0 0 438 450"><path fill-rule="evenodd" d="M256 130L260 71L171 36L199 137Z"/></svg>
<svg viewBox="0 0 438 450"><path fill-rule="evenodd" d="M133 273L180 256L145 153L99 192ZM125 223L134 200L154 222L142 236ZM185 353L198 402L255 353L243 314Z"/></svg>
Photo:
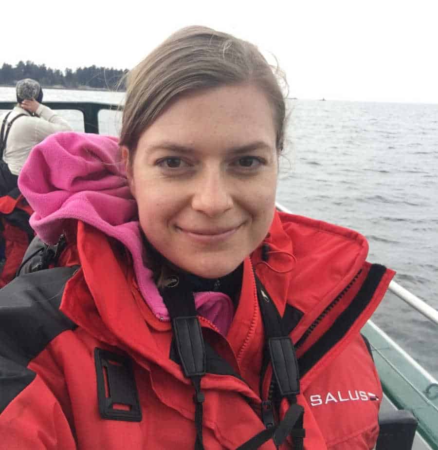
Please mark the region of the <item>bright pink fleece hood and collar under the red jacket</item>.
<svg viewBox="0 0 438 450"><path fill-rule="evenodd" d="M56 244L66 220L80 220L125 244L132 255L140 291L160 319L167 308L143 263L137 204L120 161L118 140L99 134L52 134L31 151L18 187L34 209L30 225L47 244ZM233 318L231 299L220 292L195 294L201 316L226 335Z"/></svg>

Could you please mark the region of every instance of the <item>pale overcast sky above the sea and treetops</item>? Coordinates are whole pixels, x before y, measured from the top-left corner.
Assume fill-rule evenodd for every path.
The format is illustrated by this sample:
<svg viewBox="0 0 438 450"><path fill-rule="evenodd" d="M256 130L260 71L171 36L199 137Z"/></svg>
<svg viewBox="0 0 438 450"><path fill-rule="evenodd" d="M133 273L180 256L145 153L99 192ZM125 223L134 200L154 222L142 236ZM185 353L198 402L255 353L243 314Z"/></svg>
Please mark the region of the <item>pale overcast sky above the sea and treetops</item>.
<svg viewBox="0 0 438 450"><path fill-rule="evenodd" d="M131 68L200 24L274 54L291 97L438 103L437 0L5 0L1 18L1 64Z"/></svg>

